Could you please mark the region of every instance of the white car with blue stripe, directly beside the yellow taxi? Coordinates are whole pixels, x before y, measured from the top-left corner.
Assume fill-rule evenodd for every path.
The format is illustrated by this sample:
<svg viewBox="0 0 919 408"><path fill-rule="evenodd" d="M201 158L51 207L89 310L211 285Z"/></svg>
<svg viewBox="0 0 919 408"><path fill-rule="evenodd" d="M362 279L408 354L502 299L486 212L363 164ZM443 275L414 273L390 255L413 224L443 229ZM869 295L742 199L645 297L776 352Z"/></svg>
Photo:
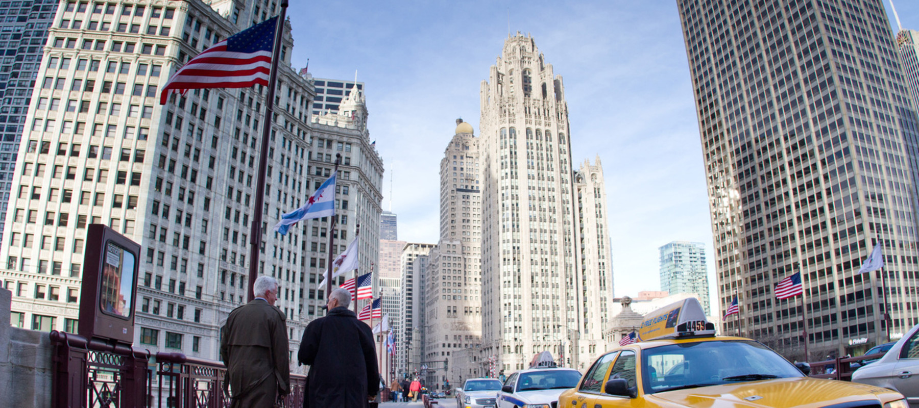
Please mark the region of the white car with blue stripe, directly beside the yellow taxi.
<svg viewBox="0 0 919 408"><path fill-rule="evenodd" d="M511 374L498 391L497 408L551 408L562 391L577 387L581 372L573 368L528 368Z"/></svg>

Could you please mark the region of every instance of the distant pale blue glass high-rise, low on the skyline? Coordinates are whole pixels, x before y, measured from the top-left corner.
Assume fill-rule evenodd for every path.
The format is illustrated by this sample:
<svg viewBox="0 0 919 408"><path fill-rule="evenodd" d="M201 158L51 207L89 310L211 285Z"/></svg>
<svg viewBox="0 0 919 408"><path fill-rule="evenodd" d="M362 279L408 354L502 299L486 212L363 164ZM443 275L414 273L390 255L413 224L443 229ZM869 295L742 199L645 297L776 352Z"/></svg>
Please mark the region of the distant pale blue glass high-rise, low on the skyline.
<svg viewBox="0 0 919 408"><path fill-rule="evenodd" d="M661 252L661 290L671 295L695 293L705 314L711 314L705 244L674 241L658 249Z"/></svg>

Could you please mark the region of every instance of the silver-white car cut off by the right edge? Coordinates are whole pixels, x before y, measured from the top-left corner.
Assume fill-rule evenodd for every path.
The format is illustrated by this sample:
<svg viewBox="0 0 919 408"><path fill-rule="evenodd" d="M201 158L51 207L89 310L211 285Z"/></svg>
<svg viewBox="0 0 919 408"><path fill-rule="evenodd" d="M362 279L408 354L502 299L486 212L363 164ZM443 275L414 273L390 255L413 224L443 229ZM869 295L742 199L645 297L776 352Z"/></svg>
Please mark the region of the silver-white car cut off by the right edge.
<svg viewBox="0 0 919 408"><path fill-rule="evenodd" d="M854 382L900 391L911 408L919 408L919 324L880 359L852 373Z"/></svg>

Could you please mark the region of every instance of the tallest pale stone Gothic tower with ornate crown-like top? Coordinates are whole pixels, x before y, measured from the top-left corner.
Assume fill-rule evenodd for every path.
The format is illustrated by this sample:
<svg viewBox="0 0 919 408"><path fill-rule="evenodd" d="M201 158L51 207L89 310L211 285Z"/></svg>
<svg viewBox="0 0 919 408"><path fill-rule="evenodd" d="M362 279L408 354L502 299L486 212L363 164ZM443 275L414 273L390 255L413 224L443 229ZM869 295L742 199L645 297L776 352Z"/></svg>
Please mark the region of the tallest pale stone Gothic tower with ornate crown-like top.
<svg viewBox="0 0 919 408"><path fill-rule="evenodd" d="M511 372L539 351L558 356L568 341L579 350L573 364L589 363L603 340L601 319L585 309L599 305L584 297L584 283L598 278L584 274L598 272L579 264L562 76L517 33L480 97L482 357Z"/></svg>

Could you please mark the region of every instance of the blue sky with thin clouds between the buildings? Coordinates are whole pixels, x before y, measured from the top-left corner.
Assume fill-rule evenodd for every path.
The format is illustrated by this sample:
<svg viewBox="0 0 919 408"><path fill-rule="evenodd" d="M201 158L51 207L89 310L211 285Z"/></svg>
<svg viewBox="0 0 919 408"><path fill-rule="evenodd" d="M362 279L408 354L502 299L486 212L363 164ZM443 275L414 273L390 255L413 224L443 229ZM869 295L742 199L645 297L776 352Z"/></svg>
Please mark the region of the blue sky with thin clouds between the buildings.
<svg viewBox="0 0 919 408"><path fill-rule="evenodd" d="M903 26L919 29L919 2L895 5ZM437 244L437 171L455 120L478 135L482 80L508 33L520 31L562 75L575 168L603 164L615 295L660 289L658 248L693 241L706 244L714 298L709 200L674 0L293 1L288 15L294 67L309 59L315 77L357 73L366 84L370 139L386 166L383 210L398 214L400 240Z"/></svg>

